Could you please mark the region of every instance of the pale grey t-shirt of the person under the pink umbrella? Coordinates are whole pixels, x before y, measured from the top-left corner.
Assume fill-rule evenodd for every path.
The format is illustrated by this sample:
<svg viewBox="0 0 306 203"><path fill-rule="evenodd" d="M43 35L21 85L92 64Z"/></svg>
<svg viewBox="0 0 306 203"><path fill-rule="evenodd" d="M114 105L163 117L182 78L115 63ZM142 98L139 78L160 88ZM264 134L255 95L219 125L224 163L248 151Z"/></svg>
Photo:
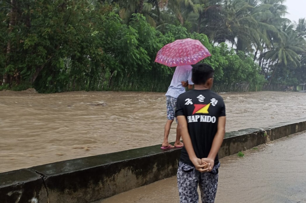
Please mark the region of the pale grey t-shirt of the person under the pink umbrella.
<svg viewBox="0 0 306 203"><path fill-rule="evenodd" d="M168 91L165 94L165 96L170 96L173 98L177 98L180 94L185 92L185 87L183 87L181 81L188 81L189 85L193 85L193 82L191 80L192 76L192 66L191 65L185 65L185 66L177 66L175 68L171 84L168 87Z"/></svg>

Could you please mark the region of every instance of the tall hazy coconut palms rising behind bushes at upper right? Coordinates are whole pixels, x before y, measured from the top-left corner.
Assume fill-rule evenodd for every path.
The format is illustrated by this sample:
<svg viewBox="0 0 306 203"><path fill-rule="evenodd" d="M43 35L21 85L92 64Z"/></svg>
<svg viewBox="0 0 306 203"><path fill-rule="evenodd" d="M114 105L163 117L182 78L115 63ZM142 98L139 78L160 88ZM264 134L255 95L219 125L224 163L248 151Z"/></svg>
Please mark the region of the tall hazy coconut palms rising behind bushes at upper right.
<svg viewBox="0 0 306 203"><path fill-rule="evenodd" d="M191 31L206 34L214 43L232 44L237 53L255 55L253 61L259 63L260 73L268 82L257 76L254 80L269 85L296 85L305 82L305 77L299 75L304 75L300 63L306 56L306 21L299 19L296 25L291 24L284 18L283 3L282 0L169 0L168 7L177 13L178 19L184 18L181 22L192 25Z"/></svg>

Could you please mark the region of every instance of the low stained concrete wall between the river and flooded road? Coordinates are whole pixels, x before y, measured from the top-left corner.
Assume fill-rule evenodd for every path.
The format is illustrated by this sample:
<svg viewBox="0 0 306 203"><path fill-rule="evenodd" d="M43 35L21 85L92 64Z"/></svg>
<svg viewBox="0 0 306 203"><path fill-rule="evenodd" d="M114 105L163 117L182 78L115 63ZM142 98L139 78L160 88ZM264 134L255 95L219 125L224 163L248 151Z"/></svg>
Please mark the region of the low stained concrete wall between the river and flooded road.
<svg viewBox="0 0 306 203"><path fill-rule="evenodd" d="M306 130L306 118L227 132L219 157ZM0 173L0 203L86 203L176 174L181 149L160 145Z"/></svg>

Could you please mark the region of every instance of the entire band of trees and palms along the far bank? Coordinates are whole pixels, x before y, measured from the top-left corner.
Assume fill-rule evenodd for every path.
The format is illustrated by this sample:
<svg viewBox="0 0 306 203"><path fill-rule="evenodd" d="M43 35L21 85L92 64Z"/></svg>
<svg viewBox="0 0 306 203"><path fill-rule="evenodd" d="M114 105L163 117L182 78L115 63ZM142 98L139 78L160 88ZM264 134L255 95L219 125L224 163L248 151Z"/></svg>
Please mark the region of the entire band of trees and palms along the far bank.
<svg viewBox="0 0 306 203"><path fill-rule="evenodd" d="M296 30L284 24L277 2L12 2L0 1L0 89L165 92L174 68L154 63L156 53L184 38L211 52L202 62L217 84L247 82L255 91L267 79L296 85L305 78L305 20Z"/></svg>

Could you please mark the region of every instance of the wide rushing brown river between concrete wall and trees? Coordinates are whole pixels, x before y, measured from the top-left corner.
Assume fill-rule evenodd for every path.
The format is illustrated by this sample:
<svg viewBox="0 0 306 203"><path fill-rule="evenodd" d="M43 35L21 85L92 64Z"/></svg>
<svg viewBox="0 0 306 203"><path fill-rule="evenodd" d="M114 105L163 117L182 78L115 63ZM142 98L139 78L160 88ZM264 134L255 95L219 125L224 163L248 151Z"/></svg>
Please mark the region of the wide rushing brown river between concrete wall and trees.
<svg viewBox="0 0 306 203"><path fill-rule="evenodd" d="M305 117L306 93L221 93L226 131ZM164 93L0 91L0 172L161 144ZM169 141L175 140L176 124Z"/></svg>

